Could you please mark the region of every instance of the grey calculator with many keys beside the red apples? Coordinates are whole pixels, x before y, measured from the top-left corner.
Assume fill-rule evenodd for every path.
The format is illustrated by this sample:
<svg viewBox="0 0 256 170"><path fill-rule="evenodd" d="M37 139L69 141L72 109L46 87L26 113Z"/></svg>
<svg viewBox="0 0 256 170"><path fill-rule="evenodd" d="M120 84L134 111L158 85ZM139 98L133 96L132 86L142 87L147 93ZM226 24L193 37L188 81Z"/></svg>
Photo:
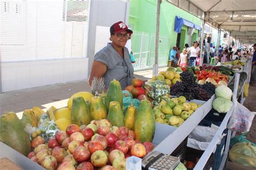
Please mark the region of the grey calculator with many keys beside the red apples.
<svg viewBox="0 0 256 170"><path fill-rule="evenodd" d="M171 155L153 151L142 160L143 169L174 169L178 166L180 159Z"/></svg>

